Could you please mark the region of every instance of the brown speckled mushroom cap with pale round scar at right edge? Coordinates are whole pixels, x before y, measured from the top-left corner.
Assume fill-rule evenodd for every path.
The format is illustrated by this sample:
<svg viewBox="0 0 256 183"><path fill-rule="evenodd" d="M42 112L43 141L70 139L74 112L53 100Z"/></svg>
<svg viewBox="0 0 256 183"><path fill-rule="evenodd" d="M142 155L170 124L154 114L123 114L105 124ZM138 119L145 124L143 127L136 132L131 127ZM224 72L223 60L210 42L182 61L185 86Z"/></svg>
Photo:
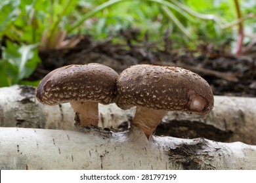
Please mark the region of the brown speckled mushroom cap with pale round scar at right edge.
<svg viewBox="0 0 256 183"><path fill-rule="evenodd" d="M181 67L134 65L117 78L116 103L204 115L213 108L213 93L201 76Z"/></svg>

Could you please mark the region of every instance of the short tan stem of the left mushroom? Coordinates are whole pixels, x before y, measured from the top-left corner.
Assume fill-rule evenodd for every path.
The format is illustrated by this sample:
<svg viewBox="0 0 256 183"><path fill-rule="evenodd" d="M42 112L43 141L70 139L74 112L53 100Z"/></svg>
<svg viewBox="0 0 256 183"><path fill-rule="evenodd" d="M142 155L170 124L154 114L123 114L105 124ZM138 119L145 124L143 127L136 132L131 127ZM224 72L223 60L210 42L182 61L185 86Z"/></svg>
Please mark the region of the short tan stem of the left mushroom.
<svg viewBox="0 0 256 183"><path fill-rule="evenodd" d="M85 127L98 125L98 103L92 101L70 101L75 112L75 125Z"/></svg>

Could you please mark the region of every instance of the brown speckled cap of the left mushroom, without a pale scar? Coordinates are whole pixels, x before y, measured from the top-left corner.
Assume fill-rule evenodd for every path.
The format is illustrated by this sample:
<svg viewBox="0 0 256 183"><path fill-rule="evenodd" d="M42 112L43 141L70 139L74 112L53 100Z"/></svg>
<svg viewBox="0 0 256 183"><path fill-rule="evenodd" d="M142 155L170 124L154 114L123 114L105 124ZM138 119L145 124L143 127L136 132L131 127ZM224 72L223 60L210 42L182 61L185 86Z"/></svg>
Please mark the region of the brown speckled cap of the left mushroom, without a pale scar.
<svg viewBox="0 0 256 183"><path fill-rule="evenodd" d="M70 101L112 103L118 74L99 63L67 65L51 71L35 90L37 99L45 105Z"/></svg>

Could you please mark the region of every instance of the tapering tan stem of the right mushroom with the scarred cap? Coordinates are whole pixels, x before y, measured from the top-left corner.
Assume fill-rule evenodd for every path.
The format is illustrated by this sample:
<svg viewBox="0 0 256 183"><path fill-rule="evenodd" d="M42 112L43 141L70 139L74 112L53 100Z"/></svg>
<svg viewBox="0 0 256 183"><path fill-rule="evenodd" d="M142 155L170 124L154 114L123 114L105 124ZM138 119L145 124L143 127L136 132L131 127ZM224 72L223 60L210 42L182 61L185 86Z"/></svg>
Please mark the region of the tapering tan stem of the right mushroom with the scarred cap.
<svg viewBox="0 0 256 183"><path fill-rule="evenodd" d="M137 106L133 125L139 126L145 133L146 137L150 137L154 133L156 127L160 124L163 116L167 114L166 110L156 110L152 108Z"/></svg>

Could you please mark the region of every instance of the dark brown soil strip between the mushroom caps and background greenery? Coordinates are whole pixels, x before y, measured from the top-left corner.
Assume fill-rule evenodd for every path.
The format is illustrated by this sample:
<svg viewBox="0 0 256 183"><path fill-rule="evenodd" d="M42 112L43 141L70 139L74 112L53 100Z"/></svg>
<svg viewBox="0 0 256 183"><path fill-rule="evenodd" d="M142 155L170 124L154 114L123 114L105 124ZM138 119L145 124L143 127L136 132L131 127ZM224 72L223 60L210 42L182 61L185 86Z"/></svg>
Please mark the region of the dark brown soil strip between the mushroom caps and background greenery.
<svg viewBox="0 0 256 183"><path fill-rule="evenodd" d="M157 45L131 41L112 44L111 39L93 42L85 37L74 48L41 51L42 64L30 79L41 79L51 70L70 64L102 63L121 73L130 65L150 63L198 73L209 82L214 95L256 97L256 51L237 57L222 47L213 49L210 44L202 44L196 51L173 50L168 46L160 50Z"/></svg>

